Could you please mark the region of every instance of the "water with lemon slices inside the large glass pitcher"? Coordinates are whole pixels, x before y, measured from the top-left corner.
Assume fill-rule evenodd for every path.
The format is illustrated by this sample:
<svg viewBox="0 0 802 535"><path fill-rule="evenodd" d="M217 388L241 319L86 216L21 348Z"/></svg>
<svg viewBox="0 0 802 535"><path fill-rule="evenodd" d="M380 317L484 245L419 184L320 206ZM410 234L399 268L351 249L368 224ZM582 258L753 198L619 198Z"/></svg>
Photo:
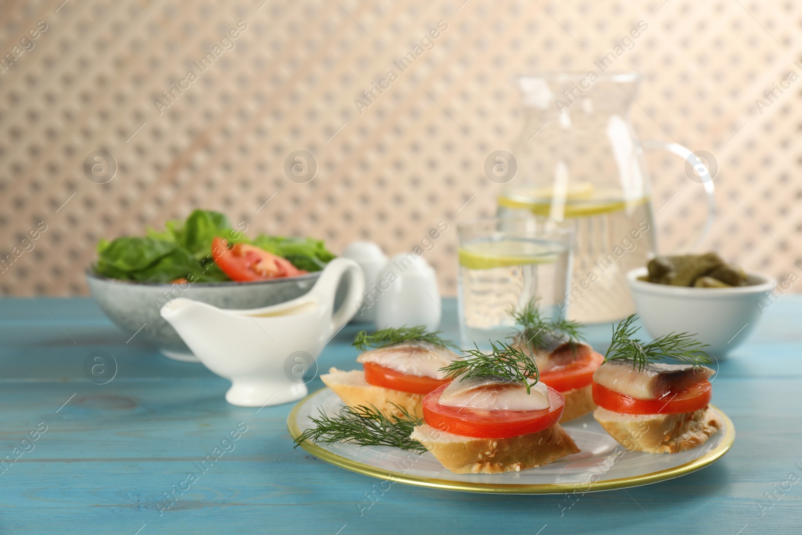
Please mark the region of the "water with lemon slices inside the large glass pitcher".
<svg viewBox="0 0 802 535"><path fill-rule="evenodd" d="M613 322L634 313L626 272L646 265L655 249L654 219L646 197L623 200L592 184L573 184L558 196L508 190L498 200L498 216L552 217L571 229L573 269L567 317L584 323Z"/></svg>

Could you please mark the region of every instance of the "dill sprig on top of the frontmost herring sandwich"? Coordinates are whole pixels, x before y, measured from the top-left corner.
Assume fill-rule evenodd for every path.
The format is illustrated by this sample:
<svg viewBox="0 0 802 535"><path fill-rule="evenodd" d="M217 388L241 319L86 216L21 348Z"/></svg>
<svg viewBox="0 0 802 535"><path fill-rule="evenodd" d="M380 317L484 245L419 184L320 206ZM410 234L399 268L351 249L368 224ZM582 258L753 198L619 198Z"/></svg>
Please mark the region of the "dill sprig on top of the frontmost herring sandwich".
<svg viewBox="0 0 802 535"><path fill-rule="evenodd" d="M518 383L523 383L526 393L534 383L540 379L540 372L537 371L537 364L532 355L527 355L523 351L516 349L504 342L496 340L499 346L490 342L492 352L488 355L476 349L464 349L467 354L463 359L455 360L446 367L440 368L446 372L448 377L460 377L460 381L472 379L474 377L486 377L494 375ZM534 380L533 380L534 379Z"/></svg>

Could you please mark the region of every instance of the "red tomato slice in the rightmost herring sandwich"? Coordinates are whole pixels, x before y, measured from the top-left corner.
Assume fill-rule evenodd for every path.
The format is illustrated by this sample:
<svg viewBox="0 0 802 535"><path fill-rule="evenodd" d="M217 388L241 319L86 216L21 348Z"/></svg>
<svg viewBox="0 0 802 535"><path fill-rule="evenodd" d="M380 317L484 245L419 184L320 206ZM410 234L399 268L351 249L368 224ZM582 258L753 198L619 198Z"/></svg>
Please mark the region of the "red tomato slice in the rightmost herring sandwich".
<svg viewBox="0 0 802 535"><path fill-rule="evenodd" d="M710 381L694 383L678 392L668 392L658 399L634 399L601 384L593 383L593 403L608 411L624 414L677 414L699 411L713 397Z"/></svg>

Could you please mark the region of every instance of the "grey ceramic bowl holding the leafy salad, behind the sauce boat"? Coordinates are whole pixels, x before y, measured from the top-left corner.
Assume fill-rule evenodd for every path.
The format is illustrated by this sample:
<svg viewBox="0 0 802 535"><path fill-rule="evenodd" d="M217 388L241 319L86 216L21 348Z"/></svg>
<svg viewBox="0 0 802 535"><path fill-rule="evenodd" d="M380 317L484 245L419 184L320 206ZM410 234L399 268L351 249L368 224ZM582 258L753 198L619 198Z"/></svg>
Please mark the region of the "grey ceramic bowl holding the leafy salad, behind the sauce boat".
<svg viewBox="0 0 802 535"><path fill-rule="evenodd" d="M176 298L205 302L222 309L247 310L277 305L311 290L321 272L293 278L255 282L132 282L101 277L87 270L92 297L111 322L127 336L143 338L170 359L198 363L175 329L160 315L161 307ZM346 282L343 282L346 284ZM339 301L345 287L338 290Z"/></svg>

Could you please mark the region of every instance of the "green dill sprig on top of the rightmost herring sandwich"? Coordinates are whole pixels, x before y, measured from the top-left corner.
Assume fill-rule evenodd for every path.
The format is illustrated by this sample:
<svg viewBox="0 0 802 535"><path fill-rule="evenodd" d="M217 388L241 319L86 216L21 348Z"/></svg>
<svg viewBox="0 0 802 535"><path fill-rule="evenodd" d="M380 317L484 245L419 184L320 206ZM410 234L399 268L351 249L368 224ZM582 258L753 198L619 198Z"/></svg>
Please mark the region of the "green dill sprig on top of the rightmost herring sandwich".
<svg viewBox="0 0 802 535"><path fill-rule="evenodd" d="M697 342L696 334L669 333L655 338L649 343L634 338L640 327L633 326L635 314L622 320L615 327L613 341L604 356L604 362L610 360L631 360L632 369L643 371L646 364L658 362L663 358L677 360L685 364L711 364L710 356L703 351L708 344Z"/></svg>

